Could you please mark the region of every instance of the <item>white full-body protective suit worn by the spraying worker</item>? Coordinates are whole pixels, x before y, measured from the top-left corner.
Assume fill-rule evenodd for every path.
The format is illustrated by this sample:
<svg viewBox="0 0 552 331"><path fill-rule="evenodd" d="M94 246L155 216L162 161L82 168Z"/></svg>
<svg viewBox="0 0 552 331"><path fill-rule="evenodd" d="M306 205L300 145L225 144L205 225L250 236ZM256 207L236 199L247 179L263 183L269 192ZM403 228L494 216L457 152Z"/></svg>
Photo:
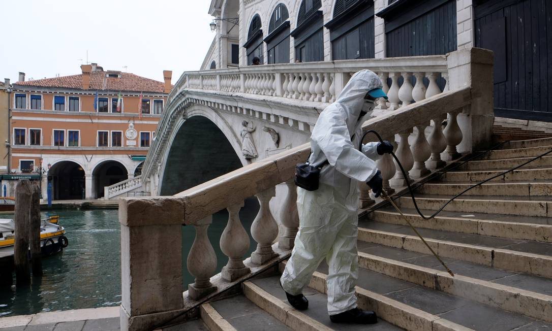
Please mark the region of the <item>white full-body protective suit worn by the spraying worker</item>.
<svg viewBox="0 0 552 331"><path fill-rule="evenodd" d="M326 258L330 315L357 307L358 182L375 175L378 169L373 159L380 157L378 143L363 145L362 152L357 149L366 117L359 120L359 115L366 93L381 86L375 73L359 71L336 102L322 111L312 130L309 161L321 164L327 158L330 165L321 170L318 190L298 188L299 232L280 281L286 292L299 295Z"/></svg>

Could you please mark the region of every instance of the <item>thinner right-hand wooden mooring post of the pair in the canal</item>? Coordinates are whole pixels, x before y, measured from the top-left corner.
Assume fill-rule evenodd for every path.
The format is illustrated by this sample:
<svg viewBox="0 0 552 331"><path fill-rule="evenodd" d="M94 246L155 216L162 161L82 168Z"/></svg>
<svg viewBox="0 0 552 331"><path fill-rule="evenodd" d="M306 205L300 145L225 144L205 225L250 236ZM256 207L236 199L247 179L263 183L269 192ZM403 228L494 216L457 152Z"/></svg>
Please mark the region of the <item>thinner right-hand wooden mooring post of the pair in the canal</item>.
<svg viewBox="0 0 552 331"><path fill-rule="evenodd" d="M33 276L42 276L42 254L40 251L40 188L36 184L33 184L33 194L31 195L30 204L29 248Z"/></svg>

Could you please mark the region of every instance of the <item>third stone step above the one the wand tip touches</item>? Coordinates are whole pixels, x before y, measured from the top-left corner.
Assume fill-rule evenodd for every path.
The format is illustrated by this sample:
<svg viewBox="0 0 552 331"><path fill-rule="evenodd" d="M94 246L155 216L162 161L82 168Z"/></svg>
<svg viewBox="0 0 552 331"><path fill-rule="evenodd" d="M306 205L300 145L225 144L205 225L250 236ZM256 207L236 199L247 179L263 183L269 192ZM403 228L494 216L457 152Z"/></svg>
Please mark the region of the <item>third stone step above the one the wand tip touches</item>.
<svg viewBox="0 0 552 331"><path fill-rule="evenodd" d="M415 195L420 209L438 210L452 196L446 195ZM396 201L404 208L414 208L410 195L401 196ZM520 215L552 217L552 197L537 196L480 196L462 195L448 204L446 211L461 211L465 213L495 213L500 215Z"/></svg>

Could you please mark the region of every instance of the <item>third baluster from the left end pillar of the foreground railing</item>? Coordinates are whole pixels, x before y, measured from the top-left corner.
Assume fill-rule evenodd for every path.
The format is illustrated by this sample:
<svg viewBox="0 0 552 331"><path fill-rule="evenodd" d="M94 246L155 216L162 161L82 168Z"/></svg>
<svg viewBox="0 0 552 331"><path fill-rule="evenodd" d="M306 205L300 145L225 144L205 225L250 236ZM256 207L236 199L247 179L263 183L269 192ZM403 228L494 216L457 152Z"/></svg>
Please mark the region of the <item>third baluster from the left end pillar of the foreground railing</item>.
<svg viewBox="0 0 552 331"><path fill-rule="evenodd" d="M251 263L261 265L274 258L272 243L278 236L278 224L270 211L270 199L276 194L275 188L256 194L259 200L259 212L251 225L251 236L257 242L257 249L251 253Z"/></svg>

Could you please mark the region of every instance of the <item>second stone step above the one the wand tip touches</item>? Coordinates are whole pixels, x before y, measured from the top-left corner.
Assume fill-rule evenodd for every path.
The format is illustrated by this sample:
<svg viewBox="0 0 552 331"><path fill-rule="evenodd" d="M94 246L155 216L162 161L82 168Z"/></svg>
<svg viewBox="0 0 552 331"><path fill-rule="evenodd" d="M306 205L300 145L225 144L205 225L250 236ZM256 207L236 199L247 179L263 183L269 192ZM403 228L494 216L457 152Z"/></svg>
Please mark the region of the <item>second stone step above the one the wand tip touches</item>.
<svg viewBox="0 0 552 331"><path fill-rule="evenodd" d="M402 212L416 228L552 243L552 218L548 217L442 211L428 221L415 209L402 209ZM422 210L422 213L431 215L432 212ZM367 217L373 221L407 226L404 218L392 207L375 210Z"/></svg>

